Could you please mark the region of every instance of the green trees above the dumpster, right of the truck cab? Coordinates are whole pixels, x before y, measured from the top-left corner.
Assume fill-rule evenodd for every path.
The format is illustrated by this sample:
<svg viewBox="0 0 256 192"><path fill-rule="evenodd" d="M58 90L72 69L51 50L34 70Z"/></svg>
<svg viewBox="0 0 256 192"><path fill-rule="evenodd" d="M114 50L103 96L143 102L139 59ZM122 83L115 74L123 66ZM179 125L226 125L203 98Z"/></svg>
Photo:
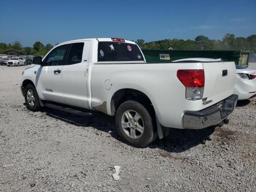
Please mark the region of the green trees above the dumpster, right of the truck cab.
<svg viewBox="0 0 256 192"><path fill-rule="evenodd" d="M244 50L256 53L256 35L235 37L234 34L226 34L222 40L210 40L200 35L195 40L165 39L145 43L138 39L136 43L144 49L217 49L217 50Z"/></svg>

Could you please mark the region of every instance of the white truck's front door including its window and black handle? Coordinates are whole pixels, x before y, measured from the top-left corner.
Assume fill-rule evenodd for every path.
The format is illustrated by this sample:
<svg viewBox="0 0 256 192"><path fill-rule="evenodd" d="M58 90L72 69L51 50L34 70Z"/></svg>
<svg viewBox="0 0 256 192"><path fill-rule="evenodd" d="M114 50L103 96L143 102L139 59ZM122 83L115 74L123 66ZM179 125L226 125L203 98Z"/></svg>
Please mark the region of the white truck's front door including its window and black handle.
<svg viewBox="0 0 256 192"><path fill-rule="evenodd" d="M64 103L61 74L68 54L68 44L58 46L43 60L37 72L36 89L42 100Z"/></svg>

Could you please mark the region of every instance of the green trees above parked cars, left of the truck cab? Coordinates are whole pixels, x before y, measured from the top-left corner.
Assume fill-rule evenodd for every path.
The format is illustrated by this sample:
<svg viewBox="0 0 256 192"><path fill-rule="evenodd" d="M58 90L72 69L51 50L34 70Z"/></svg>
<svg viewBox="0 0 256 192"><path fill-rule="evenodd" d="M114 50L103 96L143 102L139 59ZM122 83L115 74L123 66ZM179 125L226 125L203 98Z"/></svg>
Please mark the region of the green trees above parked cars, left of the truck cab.
<svg viewBox="0 0 256 192"><path fill-rule="evenodd" d="M57 45L56 43L55 45ZM48 43L44 46L40 41L34 43L33 47L24 47L18 41L14 41L12 44L0 43L0 54L6 55L34 55L44 56L48 51L53 48L53 45Z"/></svg>

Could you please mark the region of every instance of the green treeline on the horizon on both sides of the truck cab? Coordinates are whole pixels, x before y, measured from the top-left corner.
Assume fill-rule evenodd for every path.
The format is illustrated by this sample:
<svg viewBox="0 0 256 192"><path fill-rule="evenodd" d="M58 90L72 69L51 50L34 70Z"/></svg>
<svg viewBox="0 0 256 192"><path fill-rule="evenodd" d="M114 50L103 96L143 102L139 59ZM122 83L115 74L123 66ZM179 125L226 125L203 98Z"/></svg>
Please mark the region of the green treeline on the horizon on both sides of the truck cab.
<svg viewBox="0 0 256 192"><path fill-rule="evenodd" d="M256 53L256 35L244 38L226 34L222 40L211 40L206 36L199 35L195 40L174 38L147 43L143 39L138 39L136 43L144 49L217 49L244 50ZM0 54L44 56L52 48L52 44L48 43L44 46L40 41L35 42L33 47L22 48L20 42L14 41L12 44L0 43Z"/></svg>

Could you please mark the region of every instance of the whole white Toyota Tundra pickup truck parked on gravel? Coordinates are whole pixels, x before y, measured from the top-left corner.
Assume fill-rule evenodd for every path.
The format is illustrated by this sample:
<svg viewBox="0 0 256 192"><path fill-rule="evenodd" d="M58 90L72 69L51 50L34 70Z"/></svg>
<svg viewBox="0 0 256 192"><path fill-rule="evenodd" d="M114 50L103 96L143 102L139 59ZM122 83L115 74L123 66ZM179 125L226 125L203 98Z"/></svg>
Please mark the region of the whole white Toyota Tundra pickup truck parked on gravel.
<svg viewBox="0 0 256 192"><path fill-rule="evenodd" d="M120 137L136 147L163 138L169 128L222 126L238 98L234 62L147 63L135 42L120 38L64 42L33 63L20 82L29 110L115 115Z"/></svg>

